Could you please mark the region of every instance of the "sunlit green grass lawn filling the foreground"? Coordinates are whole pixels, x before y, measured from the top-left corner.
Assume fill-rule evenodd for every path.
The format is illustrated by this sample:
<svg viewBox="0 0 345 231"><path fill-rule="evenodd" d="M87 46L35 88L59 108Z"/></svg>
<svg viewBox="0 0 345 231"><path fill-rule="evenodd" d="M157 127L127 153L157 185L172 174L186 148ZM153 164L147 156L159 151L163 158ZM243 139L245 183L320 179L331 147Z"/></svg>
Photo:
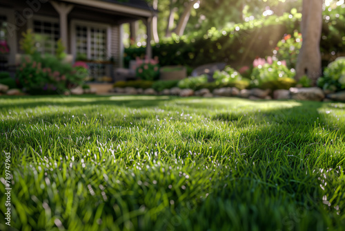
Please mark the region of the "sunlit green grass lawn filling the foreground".
<svg viewBox="0 0 345 231"><path fill-rule="evenodd" d="M16 230L344 230L345 104L0 99ZM6 212L0 184L0 230Z"/></svg>

